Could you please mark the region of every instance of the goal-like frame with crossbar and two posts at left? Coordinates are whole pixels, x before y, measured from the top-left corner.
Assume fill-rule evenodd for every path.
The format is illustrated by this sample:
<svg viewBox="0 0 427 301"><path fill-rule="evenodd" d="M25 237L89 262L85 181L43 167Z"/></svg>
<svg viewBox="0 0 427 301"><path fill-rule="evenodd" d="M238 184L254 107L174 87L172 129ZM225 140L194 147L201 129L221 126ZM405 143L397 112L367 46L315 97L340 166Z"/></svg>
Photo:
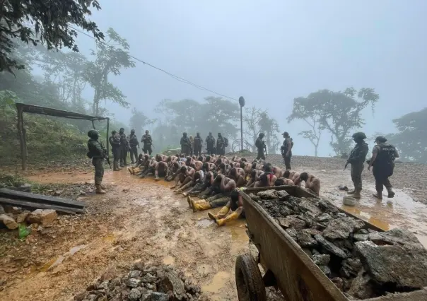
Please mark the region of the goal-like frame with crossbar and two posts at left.
<svg viewBox="0 0 427 301"><path fill-rule="evenodd" d="M87 114L81 114L76 112L70 112L65 110L57 110L52 109L51 107L40 107L38 105L28 105L21 102L16 102L16 112L18 114L18 134L19 134L19 143L21 145L21 162L22 162L22 170L26 170L27 168L27 158L28 158L28 152L27 152L27 136L26 131L24 127L24 118L23 113L30 113L30 114L42 114L47 116L54 116L54 117L64 117L69 119L80 119L80 120L89 120L92 122L93 129L95 129L95 120L101 121L101 120L107 120L107 137L106 137L106 143L107 143L107 153L109 151L109 144L108 144L108 133L110 132L110 118L109 117L99 117L99 116L91 116Z"/></svg>

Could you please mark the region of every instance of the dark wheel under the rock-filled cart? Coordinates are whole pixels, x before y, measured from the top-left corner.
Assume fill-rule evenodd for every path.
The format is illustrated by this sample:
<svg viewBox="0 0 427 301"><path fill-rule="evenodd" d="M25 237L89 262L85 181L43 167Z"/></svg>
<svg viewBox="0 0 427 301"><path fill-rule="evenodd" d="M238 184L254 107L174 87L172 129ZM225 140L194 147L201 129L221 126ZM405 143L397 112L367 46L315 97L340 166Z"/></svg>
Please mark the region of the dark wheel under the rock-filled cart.
<svg viewBox="0 0 427 301"><path fill-rule="evenodd" d="M251 254L239 255L235 260L235 283L239 301L265 301L264 282Z"/></svg>

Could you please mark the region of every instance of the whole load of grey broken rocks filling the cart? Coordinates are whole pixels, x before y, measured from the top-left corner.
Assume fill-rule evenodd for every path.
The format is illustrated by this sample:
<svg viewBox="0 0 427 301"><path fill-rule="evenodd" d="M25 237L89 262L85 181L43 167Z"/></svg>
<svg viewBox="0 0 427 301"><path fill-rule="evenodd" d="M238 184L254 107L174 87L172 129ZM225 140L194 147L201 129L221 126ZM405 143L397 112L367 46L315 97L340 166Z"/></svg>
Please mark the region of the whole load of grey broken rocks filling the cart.
<svg viewBox="0 0 427 301"><path fill-rule="evenodd" d="M427 250L407 230L372 230L329 201L250 194L337 287L368 299L427 286Z"/></svg>

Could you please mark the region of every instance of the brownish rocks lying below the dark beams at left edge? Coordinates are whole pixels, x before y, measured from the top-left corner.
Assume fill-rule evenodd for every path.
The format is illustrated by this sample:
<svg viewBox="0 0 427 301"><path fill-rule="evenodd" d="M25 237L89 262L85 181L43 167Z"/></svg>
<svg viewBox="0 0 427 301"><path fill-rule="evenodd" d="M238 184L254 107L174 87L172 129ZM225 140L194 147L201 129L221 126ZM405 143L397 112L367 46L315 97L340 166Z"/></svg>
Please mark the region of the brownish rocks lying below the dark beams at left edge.
<svg viewBox="0 0 427 301"><path fill-rule="evenodd" d="M57 218L57 211L51 209L28 211L14 206L0 206L0 227L9 230L15 230L19 224L29 224L37 230L40 226L50 225Z"/></svg>

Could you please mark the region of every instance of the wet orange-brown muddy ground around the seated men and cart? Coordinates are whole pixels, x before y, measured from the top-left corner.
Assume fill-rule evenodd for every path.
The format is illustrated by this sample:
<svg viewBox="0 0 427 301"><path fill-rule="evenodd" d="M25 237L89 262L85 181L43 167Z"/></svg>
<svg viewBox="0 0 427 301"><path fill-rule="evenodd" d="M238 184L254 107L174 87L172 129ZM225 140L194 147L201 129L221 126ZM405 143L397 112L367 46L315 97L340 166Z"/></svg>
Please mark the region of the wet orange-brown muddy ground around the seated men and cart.
<svg viewBox="0 0 427 301"><path fill-rule="evenodd" d="M268 160L281 165L279 155ZM423 190L427 179L422 177L427 166L397 164L391 178L396 196L382 201L371 196L374 181L365 170L361 201L346 207L341 202L345 192L337 189L339 184L351 188L344 163L336 158L295 157L293 169L320 177L321 195L337 206L384 230L410 229L427 247ZM120 273L134 261L177 266L211 300L237 300L235 258L250 251L244 220L217 228L206 219L207 211L192 213L184 198L172 194L170 183L141 180L127 170L106 170L108 193L95 195L84 184L93 182L88 166L37 167L26 175L34 182L59 183L52 191L61 189L64 196L86 201L88 213L60 216L50 228L23 241L16 232L0 232L0 300L72 300L96 278ZM78 196L81 191L87 195ZM271 295L273 299L276 296Z"/></svg>

